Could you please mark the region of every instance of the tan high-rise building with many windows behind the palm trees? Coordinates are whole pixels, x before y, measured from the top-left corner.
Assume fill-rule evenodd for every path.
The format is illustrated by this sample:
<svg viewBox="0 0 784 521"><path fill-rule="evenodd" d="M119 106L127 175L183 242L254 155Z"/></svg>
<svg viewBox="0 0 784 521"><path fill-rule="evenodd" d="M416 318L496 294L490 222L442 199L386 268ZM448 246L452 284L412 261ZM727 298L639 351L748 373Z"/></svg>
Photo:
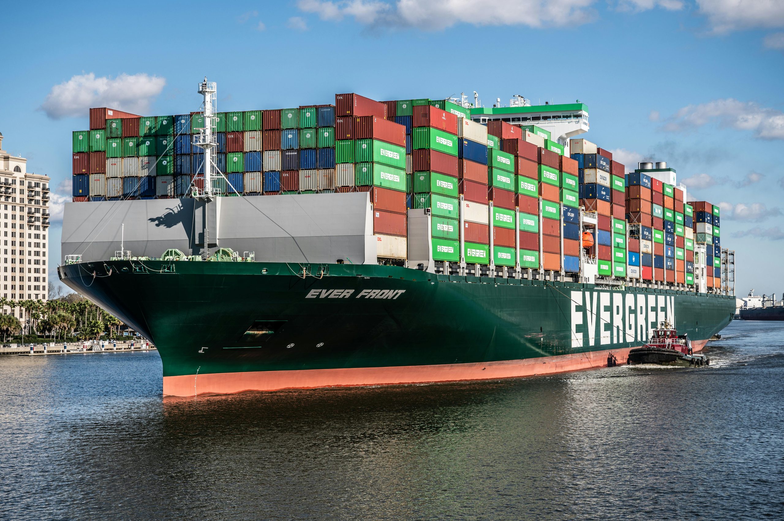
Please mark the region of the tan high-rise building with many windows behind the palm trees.
<svg viewBox="0 0 784 521"><path fill-rule="evenodd" d="M2 139L0 133L0 296L45 301L49 176L27 172L27 159L3 150ZM11 311L22 318L18 307Z"/></svg>

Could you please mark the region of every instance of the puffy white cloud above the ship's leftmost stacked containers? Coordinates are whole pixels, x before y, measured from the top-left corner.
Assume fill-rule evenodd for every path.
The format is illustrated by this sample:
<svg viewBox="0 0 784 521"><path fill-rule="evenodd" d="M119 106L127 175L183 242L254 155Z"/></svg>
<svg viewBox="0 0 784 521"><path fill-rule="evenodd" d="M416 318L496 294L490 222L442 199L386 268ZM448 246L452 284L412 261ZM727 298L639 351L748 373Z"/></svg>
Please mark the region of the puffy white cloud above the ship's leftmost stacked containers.
<svg viewBox="0 0 784 521"><path fill-rule="evenodd" d="M111 107L132 114L147 114L155 96L166 85L165 78L147 74L120 74L117 78L92 72L72 76L55 85L41 109L52 119L85 117L90 107Z"/></svg>

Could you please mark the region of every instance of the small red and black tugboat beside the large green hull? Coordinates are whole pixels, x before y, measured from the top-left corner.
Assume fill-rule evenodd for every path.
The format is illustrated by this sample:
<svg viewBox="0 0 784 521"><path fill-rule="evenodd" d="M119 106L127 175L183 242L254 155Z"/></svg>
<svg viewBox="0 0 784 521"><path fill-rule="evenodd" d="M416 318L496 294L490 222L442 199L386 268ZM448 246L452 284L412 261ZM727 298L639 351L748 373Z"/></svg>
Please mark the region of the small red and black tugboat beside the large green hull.
<svg viewBox="0 0 784 521"><path fill-rule="evenodd" d="M659 323L659 328L653 330L653 336L647 344L629 352L626 364L700 367L710 364L710 359L702 354L691 353L691 340L688 335L678 336L670 320L664 320Z"/></svg>

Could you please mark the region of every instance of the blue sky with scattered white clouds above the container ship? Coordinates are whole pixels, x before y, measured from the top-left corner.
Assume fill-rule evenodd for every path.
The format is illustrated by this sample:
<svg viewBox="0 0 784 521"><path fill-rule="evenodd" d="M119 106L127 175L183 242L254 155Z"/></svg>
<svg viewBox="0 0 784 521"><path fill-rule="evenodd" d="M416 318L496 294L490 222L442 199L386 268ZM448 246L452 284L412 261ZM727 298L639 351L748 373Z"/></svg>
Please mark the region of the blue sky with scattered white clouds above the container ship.
<svg viewBox="0 0 784 521"><path fill-rule="evenodd" d="M3 15L0 132L52 177L50 266L89 107L184 114L206 75L221 111L336 92L579 99L583 137L629 170L666 161L689 200L720 204L737 295L784 292L782 0L10 2Z"/></svg>

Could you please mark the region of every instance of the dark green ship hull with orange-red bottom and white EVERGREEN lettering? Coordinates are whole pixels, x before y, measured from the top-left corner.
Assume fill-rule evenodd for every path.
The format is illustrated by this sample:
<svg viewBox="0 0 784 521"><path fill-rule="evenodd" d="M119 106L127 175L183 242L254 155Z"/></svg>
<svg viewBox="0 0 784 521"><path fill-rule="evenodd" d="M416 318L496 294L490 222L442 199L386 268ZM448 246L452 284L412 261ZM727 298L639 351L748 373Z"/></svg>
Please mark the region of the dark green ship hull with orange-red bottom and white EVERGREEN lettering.
<svg viewBox="0 0 784 521"><path fill-rule="evenodd" d="M660 320L695 349L734 298L377 265L83 262L69 287L158 347L164 394L514 378L626 362ZM321 274L323 273L323 274Z"/></svg>

